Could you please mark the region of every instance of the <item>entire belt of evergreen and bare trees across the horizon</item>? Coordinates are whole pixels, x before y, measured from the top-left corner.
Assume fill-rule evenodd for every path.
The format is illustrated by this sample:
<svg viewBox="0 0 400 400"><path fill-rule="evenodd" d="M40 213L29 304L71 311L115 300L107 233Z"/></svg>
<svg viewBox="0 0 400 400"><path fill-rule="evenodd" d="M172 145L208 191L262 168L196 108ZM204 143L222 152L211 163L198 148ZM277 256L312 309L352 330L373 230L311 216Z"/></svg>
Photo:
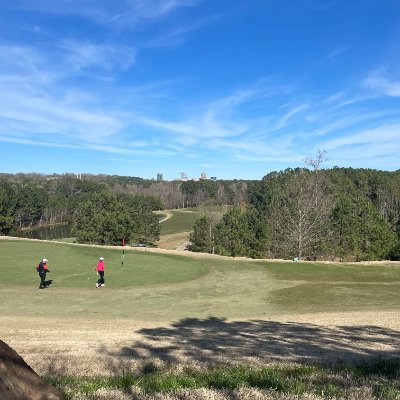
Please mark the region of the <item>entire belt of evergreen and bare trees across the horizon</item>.
<svg viewBox="0 0 400 400"><path fill-rule="evenodd" d="M307 167L259 181L0 174L0 233L68 223L80 243L154 243L159 224L153 211L228 205L219 217L204 212L190 250L252 258L400 258L400 171L322 169L317 160Z"/></svg>

